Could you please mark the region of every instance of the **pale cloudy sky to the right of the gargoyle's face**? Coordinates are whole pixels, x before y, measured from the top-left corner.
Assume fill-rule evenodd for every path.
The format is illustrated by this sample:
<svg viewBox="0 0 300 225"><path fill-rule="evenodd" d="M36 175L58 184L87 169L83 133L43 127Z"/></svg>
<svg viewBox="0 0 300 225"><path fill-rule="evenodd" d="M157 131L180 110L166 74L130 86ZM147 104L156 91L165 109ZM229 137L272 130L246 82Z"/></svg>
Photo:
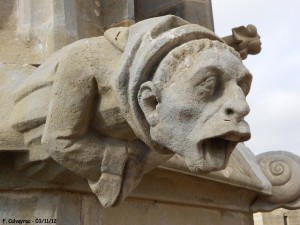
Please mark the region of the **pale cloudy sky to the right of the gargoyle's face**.
<svg viewBox="0 0 300 225"><path fill-rule="evenodd" d="M253 74L247 121L255 153L285 150L300 155L300 1L212 0L215 32L254 24L262 51L244 63Z"/></svg>

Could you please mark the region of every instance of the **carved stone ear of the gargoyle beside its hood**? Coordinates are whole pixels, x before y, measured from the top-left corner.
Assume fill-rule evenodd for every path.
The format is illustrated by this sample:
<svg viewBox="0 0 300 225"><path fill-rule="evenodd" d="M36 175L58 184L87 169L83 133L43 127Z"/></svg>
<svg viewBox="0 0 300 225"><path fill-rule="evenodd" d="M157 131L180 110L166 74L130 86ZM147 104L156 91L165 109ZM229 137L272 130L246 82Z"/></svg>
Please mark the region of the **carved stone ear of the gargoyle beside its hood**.
<svg viewBox="0 0 300 225"><path fill-rule="evenodd" d="M148 121L149 125L154 127L158 123L156 106L158 101L158 91L151 81L141 85L138 93L139 105Z"/></svg>

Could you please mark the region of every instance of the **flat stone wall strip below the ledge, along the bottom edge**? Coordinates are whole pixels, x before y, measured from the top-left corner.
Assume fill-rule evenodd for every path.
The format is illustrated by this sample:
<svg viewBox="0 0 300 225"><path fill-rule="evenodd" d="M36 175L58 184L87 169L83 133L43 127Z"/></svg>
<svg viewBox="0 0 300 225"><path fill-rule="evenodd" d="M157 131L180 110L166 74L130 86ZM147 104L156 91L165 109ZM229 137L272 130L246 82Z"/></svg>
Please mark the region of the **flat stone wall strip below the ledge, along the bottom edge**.
<svg viewBox="0 0 300 225"><path fill-rule="evenodd" d="M118 207L103 209L92 195L41 191L0 193L0 216L6 224L20 224L20 221L54 225L252 224L251 214L241 211L139 199L128 199Z"/></svg>

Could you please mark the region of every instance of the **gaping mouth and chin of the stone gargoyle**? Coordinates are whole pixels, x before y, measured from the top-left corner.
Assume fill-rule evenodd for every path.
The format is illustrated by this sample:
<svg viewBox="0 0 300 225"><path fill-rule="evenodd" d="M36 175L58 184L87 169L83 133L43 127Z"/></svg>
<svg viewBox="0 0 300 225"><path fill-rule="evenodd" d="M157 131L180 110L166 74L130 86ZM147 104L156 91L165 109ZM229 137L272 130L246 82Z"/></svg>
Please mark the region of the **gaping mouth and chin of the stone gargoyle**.
<svg viewBox="0 0 300 225"><path fill-rule="evenodd" d="M247 139L227 134L202 140L197 144L197 156L186 159L187 166L194 173L222 170L238 142Z"/></svg>

